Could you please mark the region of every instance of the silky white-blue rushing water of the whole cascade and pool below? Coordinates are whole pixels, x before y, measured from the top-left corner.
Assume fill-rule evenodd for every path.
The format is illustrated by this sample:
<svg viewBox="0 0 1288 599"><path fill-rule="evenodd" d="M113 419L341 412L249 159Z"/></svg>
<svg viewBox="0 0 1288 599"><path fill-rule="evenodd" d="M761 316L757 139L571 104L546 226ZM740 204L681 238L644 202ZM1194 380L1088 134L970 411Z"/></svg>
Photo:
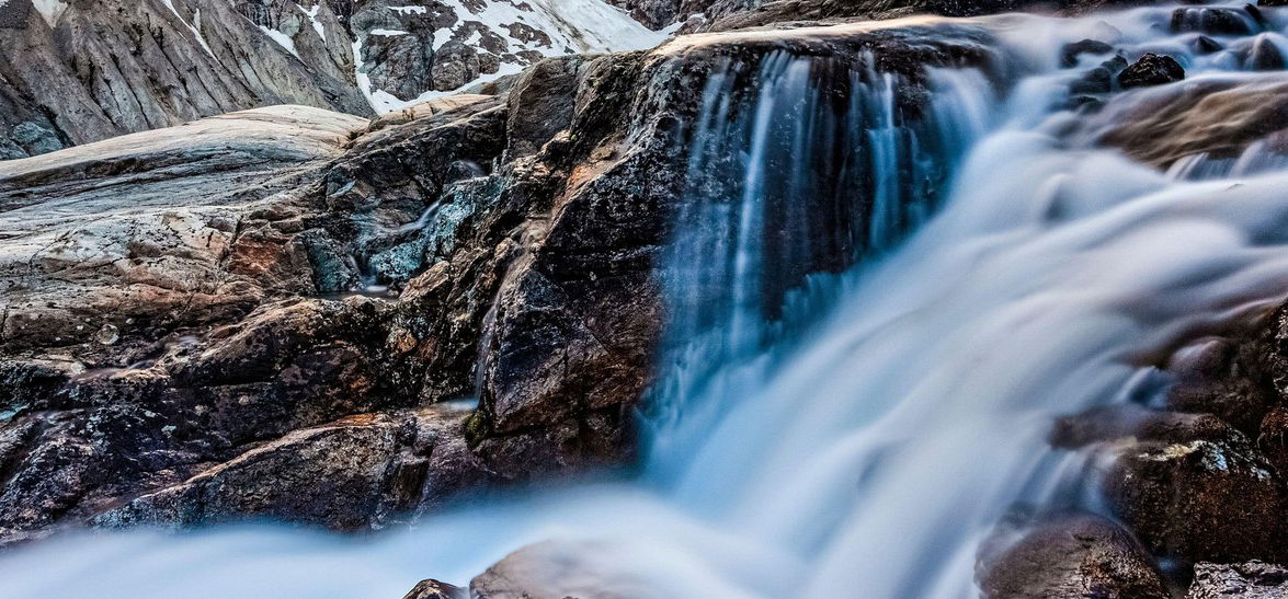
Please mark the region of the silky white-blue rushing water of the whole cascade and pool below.
<svg viewBox="0 0 1288 599"><path fill-rule="evenodd" d="M1195 181L1060 138L1081 118L1052 108L1074 75L1057 69L1060 46L1114 35L1128 54L1177 51L1150 27L1168 13L988 21L1005 60L1030 75L993 102L980 77L936 72L935 127L911 136L882 121L887 82L869 82L868 103L850 112L868 123L862 156L882 163L934 145L926 156L960 162L958 175L933 217L917 177L875 183L895 199L873 213L902 213L887 219L902 226L867 229L853 248L866 262L787 292L786 324L760 316L768 306L747 292L781 274L764 267L753 233L765 198L799 193L809 175L764 176L759 159L777 152L777 118L811 123L786 129L801 139L828 125L777 112L809 98L801 63L760 66L742 148L744 190L760 193L698 208L701 222L732 224L715 229L729 261L674 271L677 289L716 291L676 296L708 310L672 324L638 482L471 506L366 541L278 528L64 537L0 559L0 595L397 598L422 577L464 584L554 539L626 596L974 596L976 544L1010 508L1097 508L1074 491L1086 456L1045 441L1054 416L1148 402L1166 375L1140 356L1288 291L1283 168ZM1188 59L1191 76L1238 67L1225 54ZM724 118L735 107L721 85L707 114Z"/></svg>

